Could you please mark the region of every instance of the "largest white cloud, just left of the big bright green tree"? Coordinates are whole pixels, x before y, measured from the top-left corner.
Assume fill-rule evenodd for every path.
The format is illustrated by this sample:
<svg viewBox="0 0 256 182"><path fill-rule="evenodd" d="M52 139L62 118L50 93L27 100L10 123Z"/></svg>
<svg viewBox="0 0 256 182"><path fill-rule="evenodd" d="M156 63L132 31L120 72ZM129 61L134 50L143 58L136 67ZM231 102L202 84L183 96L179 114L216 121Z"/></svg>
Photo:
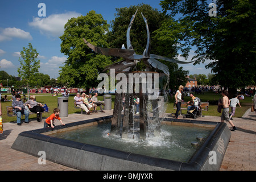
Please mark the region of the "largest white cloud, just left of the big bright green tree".
<svg viewBox="0 0 256 182"><path fill-rule="evenodd" d="M34 17L33 21L28 24L32 27L38 28L41 34L59 37L63 35L64 26L68 22L68 19L80 15L81 14L76 12L68 12L63 14L52 14L46 18Z"/></svg>

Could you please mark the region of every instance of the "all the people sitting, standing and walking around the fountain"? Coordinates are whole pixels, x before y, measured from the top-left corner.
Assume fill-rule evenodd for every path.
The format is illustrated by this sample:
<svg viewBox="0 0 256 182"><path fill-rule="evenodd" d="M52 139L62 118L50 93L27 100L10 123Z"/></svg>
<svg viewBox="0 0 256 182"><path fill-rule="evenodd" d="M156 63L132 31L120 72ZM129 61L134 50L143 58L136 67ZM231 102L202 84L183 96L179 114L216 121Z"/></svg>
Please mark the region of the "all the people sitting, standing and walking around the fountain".
<svg viewBox="0 0 256 182"><path fill-rule="evenodd" d="M201 92L199 91L201 90ZM206 90L214 90L213 87L196 87L196 88L185 88L184 86L180 85L179 88L176 90L174 94L175 102L174 104L176 105L176 113L175 113L175 118L179 119L179 111L181 107L181 103L184 102L181 98L184 92L195 92L196 94L200 94ZM168 93L172 93L172 90L168 90ZM254 110L256 111L256 94L255 94L255 88L250 89L249 92L251 96L253 96L253 107ZM233 120L234 115L236 114L236 106L240 106L240 101L244 99L243 94L235 94L232 99L229 100L228 98L228 92L226 90L222 90L222 99L219 101L218 106L221 107L222 109L222 115L221 115L221 122L229 122L230 125L232 126L232 131L236 130L236 126L234 126ZM62 93L64 97L69 97L69 92L66 90L64 93ZM97 107L100 107L100 110L102 113L105 113L105 111L102 109L102 106L104 106L104 101L99 101L98 98L98 93L96 92L94 96L92 97L92 94L85 94L82 93L80 96L80 93L77 93L76 96L74 97L74 100L76 102L76 105L80 107L81 109L85 110L86 114L90 113L97 113ZM191 101L187 102L188 104L188 111L193 109L193 100L195 99L195 96L193 96L193 93L190 93L189 96L191 97ZM247 93L246 93L247 96ZM8 101L7 96L1 99L1 101ZM43 105L39 102L36 102L35 96L31 95L29 100L26 102L23 102L21 100L20 92L14 92L13 97L11 98L11 101L13 101L12 106L13 106L13 111L16 114L17 117L17 125L21 125L20 118L22 115L25 115L25 123L29 123L28 117L30 112L36 113L36 118L38 122L41 122L40 118L40 113L44 111ZM124 102L125 102L125 97L123 97L123 107L124 107ZM139 98L137 96L134 97L134 105L136 107L135 114L139 114ZM231 108L231 111L229 112L229 107ZM55 119L59 119L58 117L60 111L57 111L55 108L55 111L53 114L55 114ZM56 114L57 113L57 114ZM47 120L47 119L46 119ZM62 121L60 120L62 123ZM54 122L53 122L54 123ZM62 123L63 124L63 123ZM46 126L53 126L51 119L48 119Z"/></svg>

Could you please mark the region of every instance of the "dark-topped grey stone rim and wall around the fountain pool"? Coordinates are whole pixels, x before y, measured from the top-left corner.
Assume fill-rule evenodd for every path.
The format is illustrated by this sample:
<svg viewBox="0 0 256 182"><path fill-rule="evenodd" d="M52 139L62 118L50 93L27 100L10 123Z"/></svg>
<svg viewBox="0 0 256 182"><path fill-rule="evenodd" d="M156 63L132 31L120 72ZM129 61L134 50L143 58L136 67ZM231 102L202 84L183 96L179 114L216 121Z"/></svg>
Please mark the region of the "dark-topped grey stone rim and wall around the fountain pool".
<svg viewBox="0 0 256 182"><path fill-rule="evenodd" d="M48 128L24 131L18 135L11 148L38 157L38 152L44 151L46 152L47 160L80 170L212 171L220 169L226 148L228 147L229 139L231 137L230 130L228 126L226 126L226 123L172 118L164 119L166 122L173 122L175 124L177 124L176 122L179 122L184 123L185 125L202 124L216 126L212 133L210 133L209 137L205 139L199 150L195 152L189 162L183 163L176 162L174 160L158 159L150 156L73 142L43 134L60 129L67 129L67 127L76 127L92 122L100 122L111 118L112 116L100 117L69 123L65 126L59 125L54 129ZM209 154L211 151L213 152L210 154L213 155ZM214 157L216 157L216 160L214 160Z"/></svg>

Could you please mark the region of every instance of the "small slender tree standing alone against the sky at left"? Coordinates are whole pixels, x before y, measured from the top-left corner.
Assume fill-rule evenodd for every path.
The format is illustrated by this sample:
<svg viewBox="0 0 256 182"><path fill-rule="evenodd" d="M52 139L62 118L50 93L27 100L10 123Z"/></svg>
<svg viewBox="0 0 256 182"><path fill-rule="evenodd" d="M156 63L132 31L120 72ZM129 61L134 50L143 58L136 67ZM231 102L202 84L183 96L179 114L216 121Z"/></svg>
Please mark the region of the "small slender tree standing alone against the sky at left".
<svg viewBox="0 0 256 182"><path fill-rule="evenodd" d="M32 47L31 43L28 44L28 48L23 47L23 51L20 51L18 76L27 81L27 87L40 68L40 60L36 60L38 55L39 53Z"/></svg>

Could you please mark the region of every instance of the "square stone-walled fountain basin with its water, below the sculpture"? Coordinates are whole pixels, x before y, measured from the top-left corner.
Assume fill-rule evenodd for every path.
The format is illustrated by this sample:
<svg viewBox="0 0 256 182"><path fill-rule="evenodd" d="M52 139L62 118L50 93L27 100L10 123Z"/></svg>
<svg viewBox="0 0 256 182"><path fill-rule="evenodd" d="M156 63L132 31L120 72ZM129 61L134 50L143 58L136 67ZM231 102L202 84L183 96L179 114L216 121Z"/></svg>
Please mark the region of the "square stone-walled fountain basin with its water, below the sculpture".
<svg viewBox="0 0 256 182"><path fill-rule="evenodd" d="M39 156L39 151L44 151L46 159L81 170L218 170L231 136L226 123L165 118L162 122L160 138L147 138L146 142L140 142L137 138L125 139L124 143L128 148L123 148L118 146L118 140L121 139L108 136L110 129L107 123L111 118L101 117L56 126L54 129L25 131L18 135L12 148L35 156ZM87 131L84 130L86 127ZM201 130L202 127L206 127L207 131ZM76 129L77 131L72 134L72 130ZM172 137L176 131L181 135L179 141ZM65 139L64 133L68 136ZM86 136L91 133L96 137L89 142L77 137L79 133L84 133ZM192 135L192 138L182 138L185 135ZM204 135L205 139L199 142L200 146L191 146L191 142L197 141L198 135ZM79 140L73 141L70 138L79 138ZM112 146L107 143L111 140L114 143ZM129 140L133 140L134 144ZM97 142L104 143L105 146L100 146ZM184 142L188 148L185 149L180 142ZM144 146L138 146L139 143L144 143ZM142 152L129 148L133 145ZM151 149L144 148L148 146L151 146ZM168 148L174 151L168 151ZM162 154L162 151L166 150L167 155ZM190 154L180 156L180 151ZM210 151L214 151L216 156L210 155L212 154ZM174 153L179 155L175 154L175 156Z"/></svg>

